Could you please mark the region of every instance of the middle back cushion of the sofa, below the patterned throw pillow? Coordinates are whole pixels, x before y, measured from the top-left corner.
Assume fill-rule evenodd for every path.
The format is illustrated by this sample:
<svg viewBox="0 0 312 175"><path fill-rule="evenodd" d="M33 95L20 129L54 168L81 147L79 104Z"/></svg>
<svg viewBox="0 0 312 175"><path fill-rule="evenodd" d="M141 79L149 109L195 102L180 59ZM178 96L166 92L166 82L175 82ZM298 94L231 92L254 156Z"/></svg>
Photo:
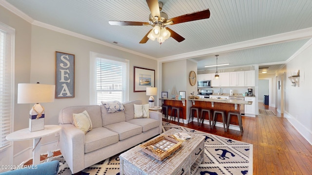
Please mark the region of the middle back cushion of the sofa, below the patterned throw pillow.
<svg viewBox="0 0 312 175"><path fill-rule="evenodd" d="M102 126L126 121L124 111L108 113L104 105L100 106L102 112Z"/></svg>

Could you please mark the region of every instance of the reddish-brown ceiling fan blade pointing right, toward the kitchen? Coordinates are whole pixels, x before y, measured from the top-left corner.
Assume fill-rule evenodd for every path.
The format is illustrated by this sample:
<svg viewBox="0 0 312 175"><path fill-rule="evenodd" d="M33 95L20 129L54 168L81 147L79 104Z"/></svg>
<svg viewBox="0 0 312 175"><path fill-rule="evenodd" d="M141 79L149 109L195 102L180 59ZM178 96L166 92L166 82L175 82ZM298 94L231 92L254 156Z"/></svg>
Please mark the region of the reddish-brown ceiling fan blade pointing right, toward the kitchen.
<svg viewBox="0 0 312 175"><path fill-rule="evenodd" d="M195 20L200 20L200 19L206 19L210 17L210 11L209 9L199 11L199 12L194 12L190 14L185 14L179 17L171 18L168 19L167 22L173 21L173 24L178 24L182 22L189 22L189 21L195 21ZM172 25L173 25L172 24Z"/></svg>

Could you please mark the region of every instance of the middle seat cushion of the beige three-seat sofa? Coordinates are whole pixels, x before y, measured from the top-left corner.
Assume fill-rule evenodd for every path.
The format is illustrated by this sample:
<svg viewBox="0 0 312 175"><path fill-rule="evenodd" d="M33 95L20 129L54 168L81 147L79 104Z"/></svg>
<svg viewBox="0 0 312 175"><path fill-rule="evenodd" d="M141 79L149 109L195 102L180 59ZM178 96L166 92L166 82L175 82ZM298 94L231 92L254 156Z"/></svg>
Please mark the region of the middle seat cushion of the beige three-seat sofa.
<svg viewBox="0 0 312 175"><path fill-rule="evenodd" d="M114 124L109 124L105 126L111 131L117 132L119 134L119 140L124 140L142 133L142 127L137 124L132 124L128 122L119 122Z"/></svg>

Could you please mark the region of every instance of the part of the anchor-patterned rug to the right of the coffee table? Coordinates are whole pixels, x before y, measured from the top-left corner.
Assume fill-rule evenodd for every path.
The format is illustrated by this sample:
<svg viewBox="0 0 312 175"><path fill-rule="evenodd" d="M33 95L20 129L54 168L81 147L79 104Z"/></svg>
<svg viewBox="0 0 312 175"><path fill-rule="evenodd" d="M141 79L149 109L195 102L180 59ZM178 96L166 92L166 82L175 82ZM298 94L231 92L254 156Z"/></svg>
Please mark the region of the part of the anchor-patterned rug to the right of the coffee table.
<svg viewBox="0 0 312 175"><path fill-rule="evenodd" d="M204 160L195 175L253 175L253 145L163 122L163 130L181 129L205 136Z"/></svg>

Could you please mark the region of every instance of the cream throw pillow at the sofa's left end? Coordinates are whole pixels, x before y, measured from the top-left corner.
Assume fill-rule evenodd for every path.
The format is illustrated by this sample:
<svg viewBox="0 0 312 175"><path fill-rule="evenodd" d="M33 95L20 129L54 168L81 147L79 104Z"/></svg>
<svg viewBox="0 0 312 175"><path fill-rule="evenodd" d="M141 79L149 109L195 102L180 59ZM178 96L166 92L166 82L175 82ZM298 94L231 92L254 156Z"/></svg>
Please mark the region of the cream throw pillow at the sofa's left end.
<svg viewBox="0 0 312 175"><path fill-rule="evenodd" d="M86 110L79 114L73 114L73 118L75 126L83 131L84 134L92 129L92 122Z"/></svg>

